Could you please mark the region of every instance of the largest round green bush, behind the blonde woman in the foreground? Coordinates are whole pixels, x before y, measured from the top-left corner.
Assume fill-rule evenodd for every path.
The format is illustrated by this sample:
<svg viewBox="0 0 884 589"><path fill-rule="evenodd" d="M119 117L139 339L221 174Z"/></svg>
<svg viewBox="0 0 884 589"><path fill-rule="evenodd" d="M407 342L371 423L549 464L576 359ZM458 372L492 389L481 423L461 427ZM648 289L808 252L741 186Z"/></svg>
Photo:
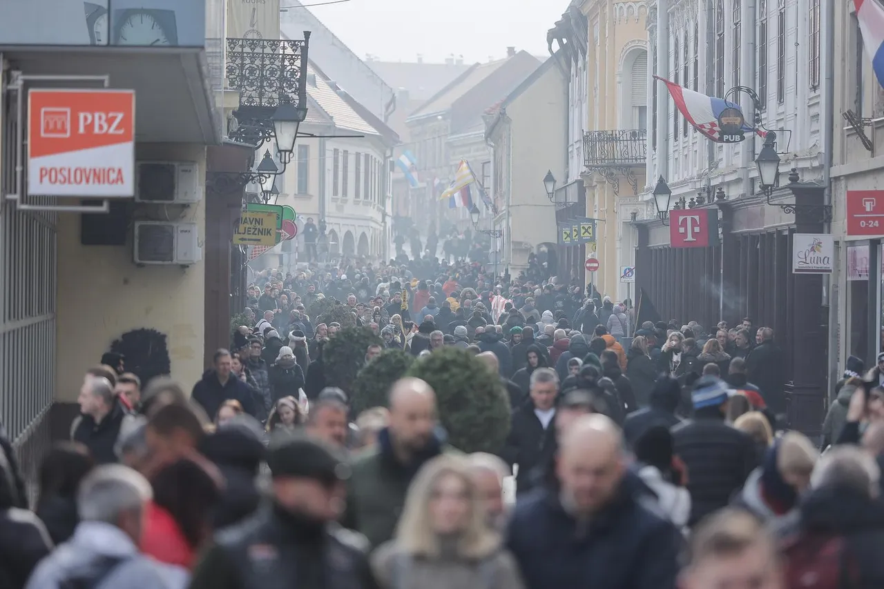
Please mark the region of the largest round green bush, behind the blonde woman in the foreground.
<svg viewBox="0 0 884 589"><path fill-rule="evenodd" d="M468 351L453 346L417 359L408 376L434 391L448 441L463 452L496 453L509 434L510 408L497 373Z"/></svg>

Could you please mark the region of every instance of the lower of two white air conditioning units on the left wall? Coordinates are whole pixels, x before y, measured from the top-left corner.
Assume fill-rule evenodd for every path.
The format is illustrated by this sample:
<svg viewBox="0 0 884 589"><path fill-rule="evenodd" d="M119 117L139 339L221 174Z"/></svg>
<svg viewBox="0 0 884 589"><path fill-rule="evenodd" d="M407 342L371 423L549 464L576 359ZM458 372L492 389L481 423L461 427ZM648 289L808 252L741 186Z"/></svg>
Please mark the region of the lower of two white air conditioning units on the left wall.
<svg viewBox="0 0 884 589"><path fill-rule="evenodd" d="M189 266L202 260L196 223L136 221L136 264Z"/></svg>

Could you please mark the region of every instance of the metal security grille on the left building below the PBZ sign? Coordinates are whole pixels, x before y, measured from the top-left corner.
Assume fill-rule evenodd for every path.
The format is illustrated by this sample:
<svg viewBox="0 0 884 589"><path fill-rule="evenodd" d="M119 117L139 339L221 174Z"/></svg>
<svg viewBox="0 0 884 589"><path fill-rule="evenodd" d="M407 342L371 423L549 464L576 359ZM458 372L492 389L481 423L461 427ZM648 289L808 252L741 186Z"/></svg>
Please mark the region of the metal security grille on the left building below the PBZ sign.
<svg viewBox="0 0 884 589"><path fill-rule="evenodd" d="M15 190L14 106L0 93L0 196ZM29 204L49 205L48 198ZM56 391L57 214L20 211L0 200L0 422L27 480L50 444Z"/></svg>

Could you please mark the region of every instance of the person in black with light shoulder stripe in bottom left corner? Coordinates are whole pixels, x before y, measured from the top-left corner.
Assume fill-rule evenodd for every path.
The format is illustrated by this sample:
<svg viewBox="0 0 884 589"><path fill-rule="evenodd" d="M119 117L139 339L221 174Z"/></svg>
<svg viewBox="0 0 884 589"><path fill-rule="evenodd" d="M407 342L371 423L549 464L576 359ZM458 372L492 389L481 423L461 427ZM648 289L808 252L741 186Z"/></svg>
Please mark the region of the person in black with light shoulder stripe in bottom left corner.
<svg viewBox="0 0 884 589"><path fill-rule="evenodd" d="M53 544L40 518L16 507L9 464L0 458L0 587L21 589Z"/></svg>

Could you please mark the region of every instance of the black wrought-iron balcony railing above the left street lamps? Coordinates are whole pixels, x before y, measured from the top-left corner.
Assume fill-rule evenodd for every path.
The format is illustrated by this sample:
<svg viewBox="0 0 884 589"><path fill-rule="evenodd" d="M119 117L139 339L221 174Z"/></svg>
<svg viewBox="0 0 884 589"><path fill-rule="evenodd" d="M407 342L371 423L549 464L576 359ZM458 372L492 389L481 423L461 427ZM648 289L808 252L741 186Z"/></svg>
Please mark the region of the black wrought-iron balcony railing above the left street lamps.
<svg viewBox="0 0 884 589"><path fill-rule="evenodd" d="M277 107L305 99L306 39L227 39L227 85L240 107Z"/></svg>

